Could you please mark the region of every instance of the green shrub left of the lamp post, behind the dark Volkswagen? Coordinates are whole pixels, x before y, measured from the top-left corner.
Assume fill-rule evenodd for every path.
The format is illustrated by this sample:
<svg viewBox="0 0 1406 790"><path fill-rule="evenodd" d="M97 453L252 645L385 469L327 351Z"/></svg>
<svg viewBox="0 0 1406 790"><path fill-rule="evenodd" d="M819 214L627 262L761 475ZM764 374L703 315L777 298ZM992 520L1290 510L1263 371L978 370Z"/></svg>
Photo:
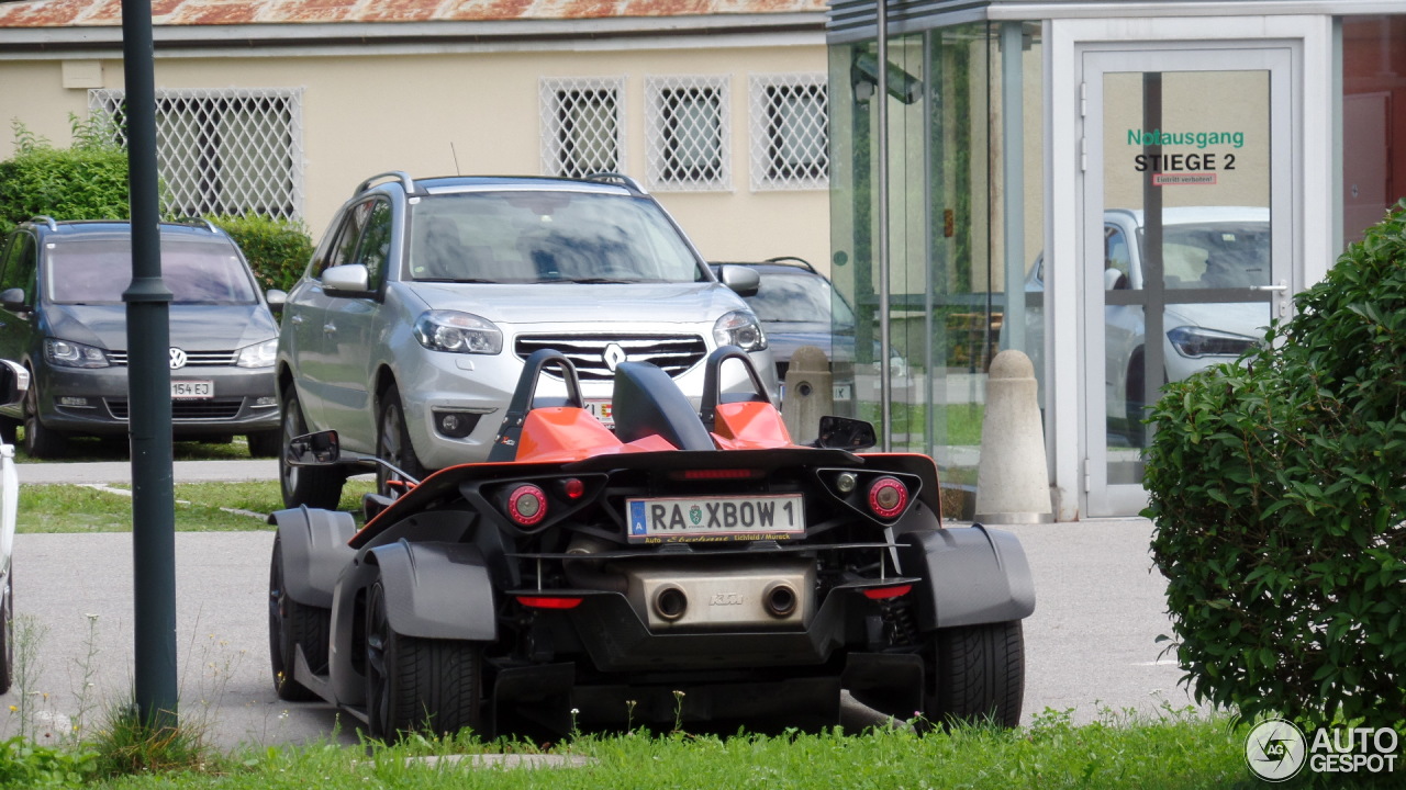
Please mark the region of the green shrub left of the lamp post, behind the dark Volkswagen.
<svg viewBox="0 0 1406 790"><path fill-rule="evenodd" d="M0 162L0 233L35 215L127 219L127 152L100 119L69 117L73 145L55 148L14 121L13 159Z"/></svg>

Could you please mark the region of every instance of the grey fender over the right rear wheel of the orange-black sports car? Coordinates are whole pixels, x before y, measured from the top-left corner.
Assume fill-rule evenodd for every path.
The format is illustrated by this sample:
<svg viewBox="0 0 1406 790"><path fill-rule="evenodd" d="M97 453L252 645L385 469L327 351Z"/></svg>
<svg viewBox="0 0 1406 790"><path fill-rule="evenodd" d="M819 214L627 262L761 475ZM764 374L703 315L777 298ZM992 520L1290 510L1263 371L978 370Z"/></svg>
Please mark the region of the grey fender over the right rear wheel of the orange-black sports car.
<svg viewBox="0 0 1406 790"><path fill-rule="evenodd" d="M1035 583L1019 540L981 524L924 530L898 537L904 575L922 576L914 590L922 630L1008 623L1035 611Z"/></svg>

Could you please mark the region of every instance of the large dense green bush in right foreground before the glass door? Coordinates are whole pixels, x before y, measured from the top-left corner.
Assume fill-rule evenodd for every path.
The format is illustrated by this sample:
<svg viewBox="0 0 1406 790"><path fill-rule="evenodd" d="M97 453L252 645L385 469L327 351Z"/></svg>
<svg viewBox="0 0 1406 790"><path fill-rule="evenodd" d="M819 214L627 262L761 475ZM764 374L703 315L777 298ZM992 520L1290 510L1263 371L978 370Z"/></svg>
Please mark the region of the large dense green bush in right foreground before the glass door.
<svg viewBox="0 0 1406 790"><path fill-rule="evenodd" d="M1406 721L1406 201L1268 346L1173 382L1144 485L1199 699Z"/></svg>

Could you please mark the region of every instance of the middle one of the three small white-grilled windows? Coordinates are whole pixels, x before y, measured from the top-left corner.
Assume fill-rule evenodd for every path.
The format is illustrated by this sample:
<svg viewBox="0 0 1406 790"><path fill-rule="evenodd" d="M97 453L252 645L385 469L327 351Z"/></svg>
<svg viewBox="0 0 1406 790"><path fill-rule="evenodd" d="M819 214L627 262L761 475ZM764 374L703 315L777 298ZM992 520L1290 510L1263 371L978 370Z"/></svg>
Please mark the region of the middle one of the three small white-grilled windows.
<svg viewBox="0 0 1406 790"><path fill-rule="evenodd" d="M645 77L645 180L657 191L730 191L733 188L733 132L731 132L731 77L730 76L654 76ZM679 115L679 94L697 91L711 96L711 118L692 114ZM697 121L711 125L716 139L711 162L699 166L696 162L682 162L681 149L690 148L690 141L706 138L709 129L699 129ZM686 128L679 127L689 124ZM697 146L692 146L697 148ZM699 150L682 150L696 155ZM707 153L703 150L702 153Z"/></svg>

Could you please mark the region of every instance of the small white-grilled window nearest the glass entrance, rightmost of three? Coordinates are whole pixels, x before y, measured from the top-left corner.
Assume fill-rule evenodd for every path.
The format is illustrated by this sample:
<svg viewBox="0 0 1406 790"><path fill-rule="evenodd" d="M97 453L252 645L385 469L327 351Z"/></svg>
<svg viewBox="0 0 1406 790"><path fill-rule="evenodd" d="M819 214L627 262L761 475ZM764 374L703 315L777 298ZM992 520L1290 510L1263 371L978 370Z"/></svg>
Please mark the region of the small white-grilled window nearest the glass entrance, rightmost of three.
<svg viewBox="0 0 1406 790"><path fill-rule="evenodd" d="M779 117L773 96L780 91L820 93L820 108L799 121ZM824 73L752 75L751 94L751 184L754 191L824 190L830 187L830 91ZM814 124L820 128L814 128ZM801 127L800 145L785 139L786 127ZM782 138L782 139L778 139ZM804 160L785 162L785 148L808 155Z"/></svg>

